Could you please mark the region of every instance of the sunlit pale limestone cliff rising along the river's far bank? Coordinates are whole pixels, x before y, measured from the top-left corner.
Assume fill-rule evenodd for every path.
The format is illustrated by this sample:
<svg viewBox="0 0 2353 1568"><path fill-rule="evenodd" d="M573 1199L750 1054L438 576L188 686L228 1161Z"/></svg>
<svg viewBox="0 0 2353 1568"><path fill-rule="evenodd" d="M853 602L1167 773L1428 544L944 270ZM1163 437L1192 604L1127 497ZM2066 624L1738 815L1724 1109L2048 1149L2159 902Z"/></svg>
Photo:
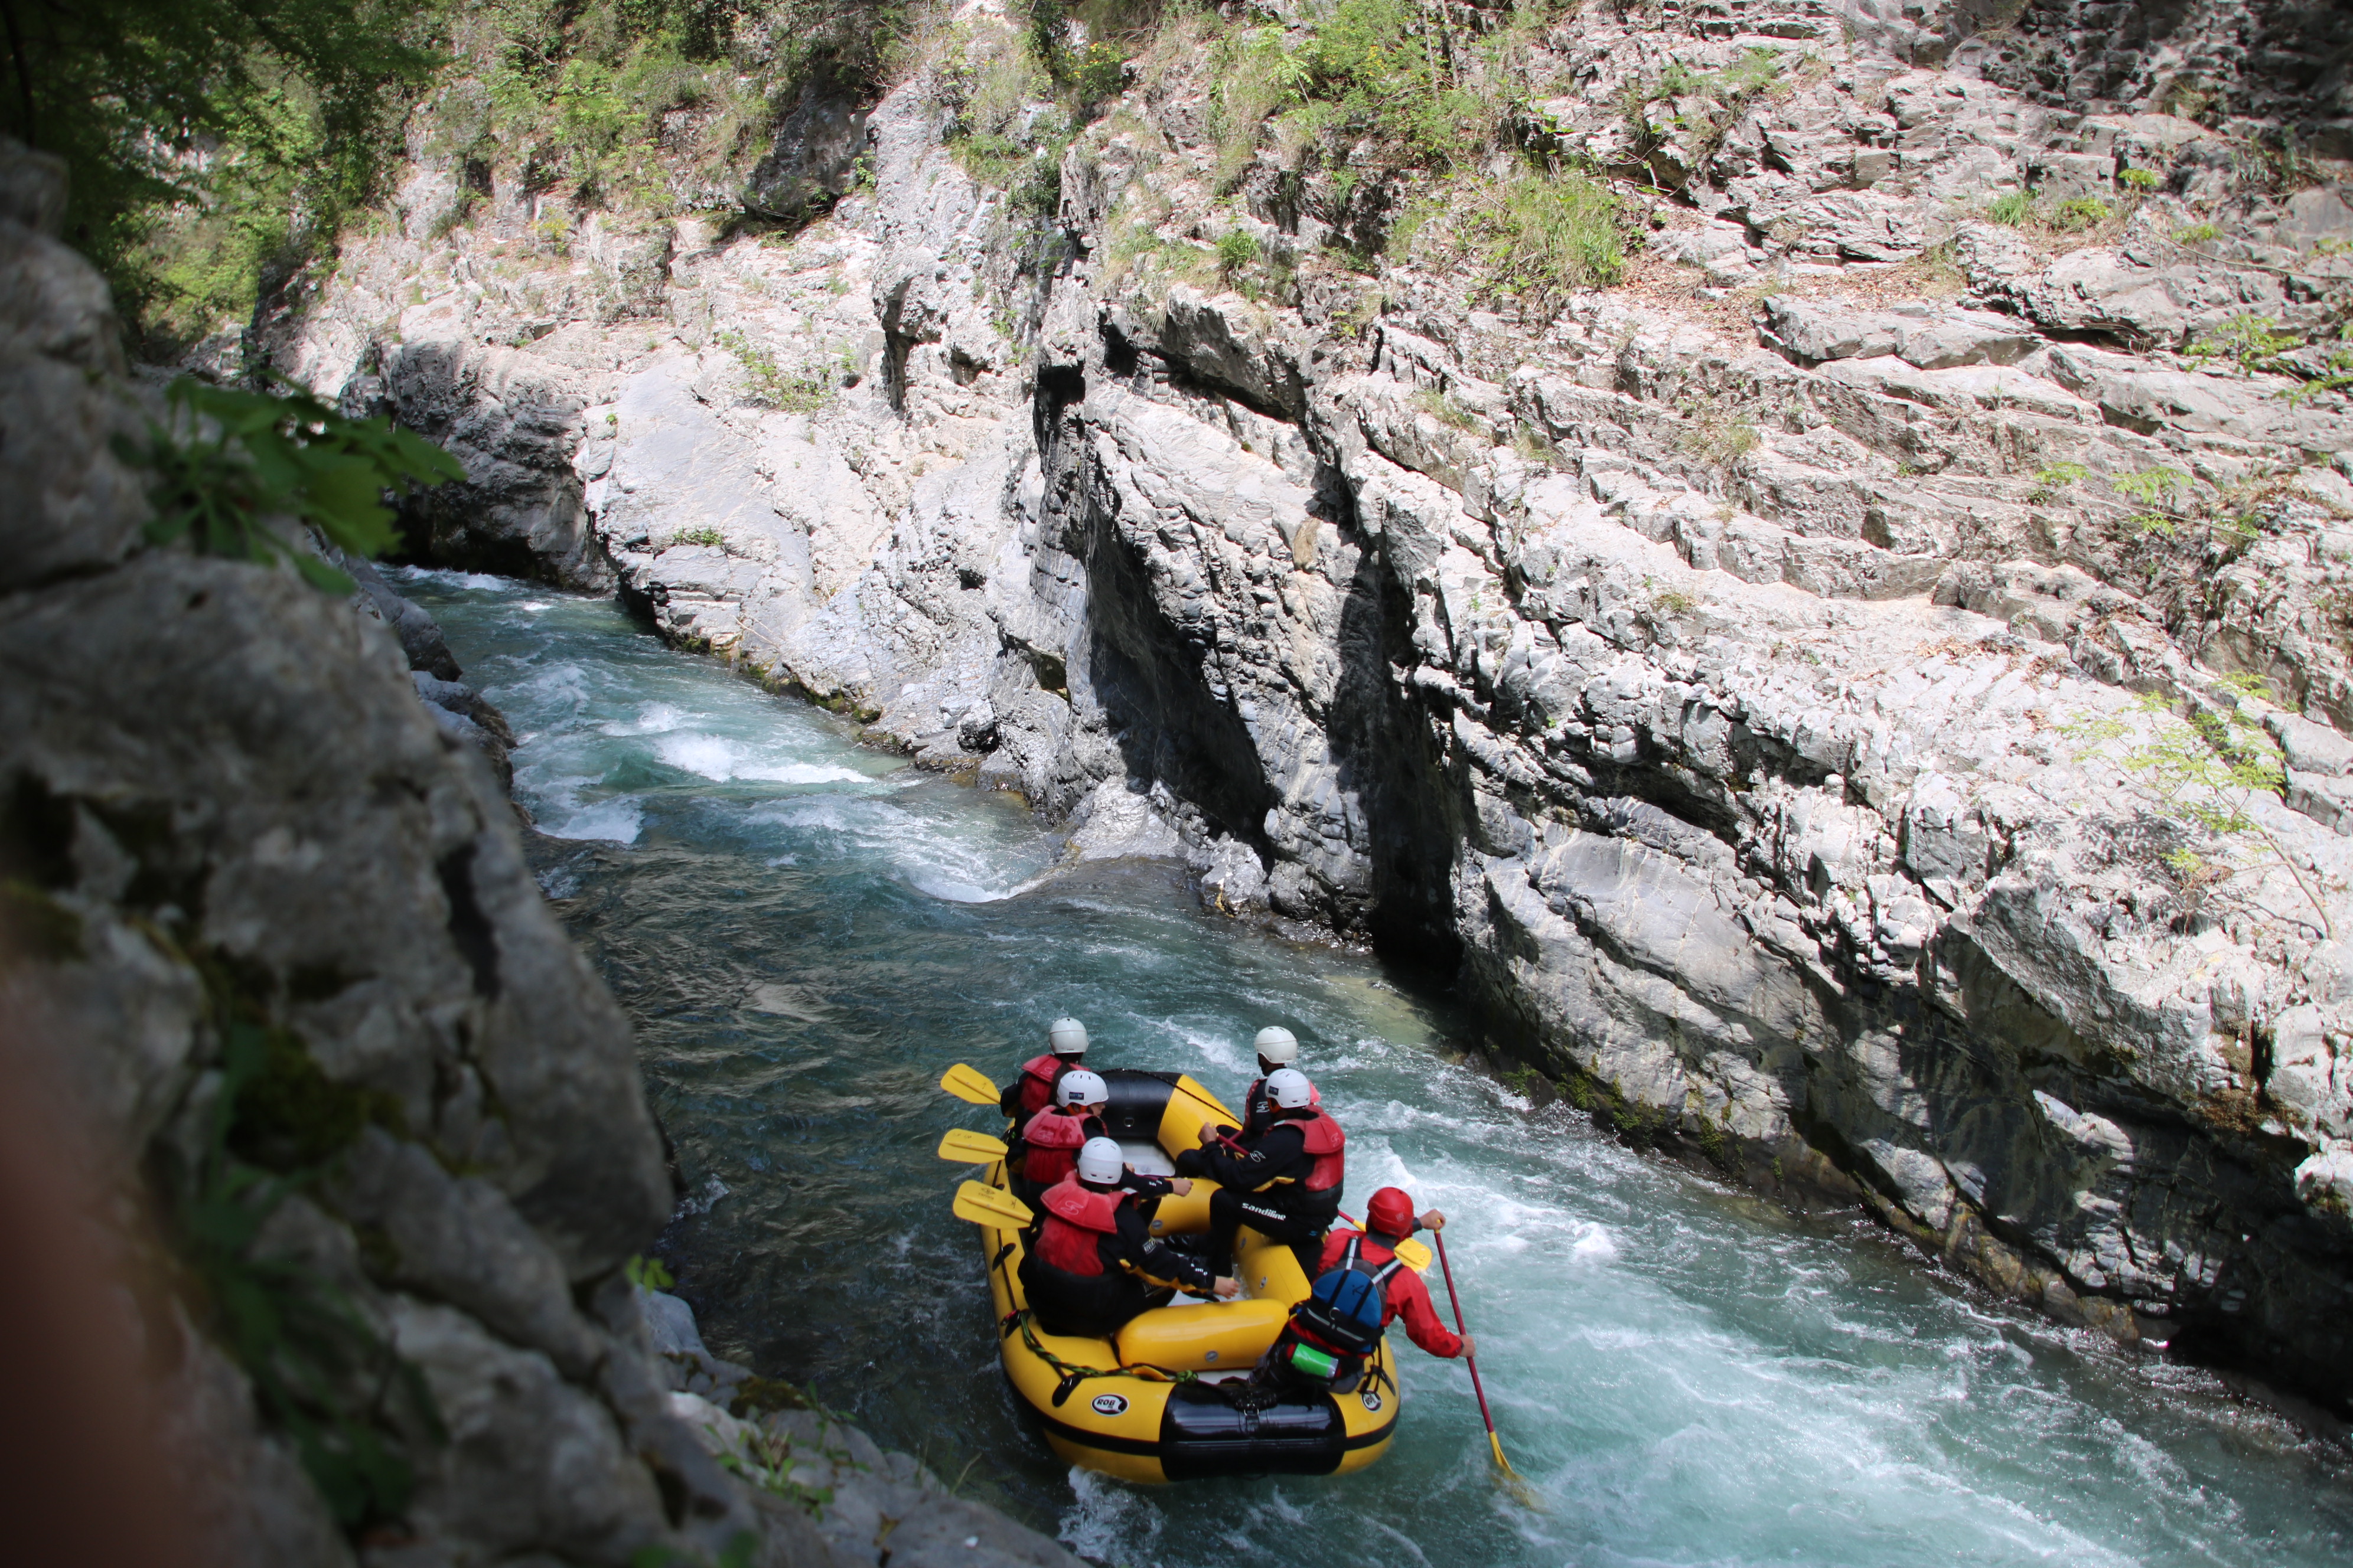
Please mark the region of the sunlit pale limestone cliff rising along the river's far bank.
<svg viewBox="0 0 2353 1568"><path fill-rule="evenodd" d="M798 230L553 254L421 155L261 339L466 456L438 559L1155 816L1638 1135L2353 1396L2341 12L1567 7L1442 188L1238 143L1186 26L1049 219L951 146L1016 47L965 5ZM1527 158L1614 181L1617 287L1508 284Z"/></svg>

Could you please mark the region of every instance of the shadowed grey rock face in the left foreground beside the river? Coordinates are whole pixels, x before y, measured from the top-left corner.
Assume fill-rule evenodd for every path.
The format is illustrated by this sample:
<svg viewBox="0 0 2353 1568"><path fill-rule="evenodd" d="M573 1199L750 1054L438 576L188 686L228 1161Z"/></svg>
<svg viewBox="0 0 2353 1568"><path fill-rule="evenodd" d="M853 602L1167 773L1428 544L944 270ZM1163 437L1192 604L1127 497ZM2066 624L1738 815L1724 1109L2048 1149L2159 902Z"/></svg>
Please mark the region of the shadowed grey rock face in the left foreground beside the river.
<svg viewBox="0 0 2353 1568"><path fill-rule="evenodd" d="M372 574L353 614L144 545L113 437L148 409L61 205L0 148L0 1065L56 1095L136 1305L89 1331L158 1378L195 1556L885 1561L673 1401L624 1276L661 1140L478 750L496 712ZM906 1540L976 1535L892 1465ZM1071 1559L993 1521L955 1561Z"/></svg>

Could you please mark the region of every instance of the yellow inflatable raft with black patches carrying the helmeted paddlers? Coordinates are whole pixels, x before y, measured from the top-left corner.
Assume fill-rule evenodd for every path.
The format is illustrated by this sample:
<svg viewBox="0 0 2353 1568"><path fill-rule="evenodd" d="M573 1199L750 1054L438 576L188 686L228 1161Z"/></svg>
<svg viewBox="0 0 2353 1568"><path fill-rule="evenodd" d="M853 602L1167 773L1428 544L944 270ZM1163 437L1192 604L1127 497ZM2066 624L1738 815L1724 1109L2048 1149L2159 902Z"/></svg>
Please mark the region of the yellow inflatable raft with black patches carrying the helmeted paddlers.
<svg viewBox="0 0 2353 1568"><path fill-rule="evenodd" d="M1139 1173L1167 1175L1174 1154L1200 1145L1205 1121L1240 1121L1186 1074L1111 1067L1104 1079L1111 1084L1104 1126ZM1007 1187L1005 1161L986 1166L981 1178ZM1205 1232L1209 1192L1200 1182L1188 1197L1160 1199L1153 1229ZM1038 1410L1054 1453L1073 1465L1125 1481L1332 1476L1388 1450L1400 1392L1386 1340L1348 1392L1289 1394L1242 1410L1217 1389L1249 1375L1308 1293L1292 1251L1254 1229L1245 1227L1235 1244L1238 1300L1179 1298L1108 1340L1052 1335L1031 1321L1019 1227L981 1225L981 1248L1005 1375Z"/></svg>

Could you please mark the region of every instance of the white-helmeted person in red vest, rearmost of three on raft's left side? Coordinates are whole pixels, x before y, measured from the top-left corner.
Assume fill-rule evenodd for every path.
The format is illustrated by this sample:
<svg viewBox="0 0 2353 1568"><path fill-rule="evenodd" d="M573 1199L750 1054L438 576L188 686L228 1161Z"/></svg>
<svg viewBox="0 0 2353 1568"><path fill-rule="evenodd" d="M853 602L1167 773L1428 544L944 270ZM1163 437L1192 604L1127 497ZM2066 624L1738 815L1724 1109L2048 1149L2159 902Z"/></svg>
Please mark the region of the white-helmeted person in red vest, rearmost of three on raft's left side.
<svg viewBox="0 0 2353 1568"><path fill-rule="evenodd" d="M1158 1197L1127 1192L1127 1161L1111 1138L1089 1138L1073 1171L1040 1199L1038 1241L1021 1258L1021 1288L1047 1333L1101 1338L1160 1307L1181 1286L1195 1295L1235 1298L1242 1286L1212 1276L1198 1260L1151 1232Z"/></svg>

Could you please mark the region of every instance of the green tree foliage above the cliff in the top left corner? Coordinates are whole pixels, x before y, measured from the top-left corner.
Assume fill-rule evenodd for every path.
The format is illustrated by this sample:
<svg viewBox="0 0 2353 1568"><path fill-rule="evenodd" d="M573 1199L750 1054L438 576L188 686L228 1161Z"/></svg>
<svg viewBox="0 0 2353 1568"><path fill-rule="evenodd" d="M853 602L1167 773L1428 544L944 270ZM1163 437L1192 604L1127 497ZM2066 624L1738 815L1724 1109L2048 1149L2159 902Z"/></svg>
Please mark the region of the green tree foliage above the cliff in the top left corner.
<svg viewBox="0 0 2353 1568"><path fill-rule="evenodd" d="M758 141L809 75L880 82L906 0L0 0L0 134L71 169L66 237L155 348L245 320L379 202L409 108L475 78L464 148L605 200L671 108ZM741 99L741 101L736 101ZM478 146L475 146L478 141ZM734 146L741 141L741 146ZM546 186L539 186L546 188Z"/></svg>

